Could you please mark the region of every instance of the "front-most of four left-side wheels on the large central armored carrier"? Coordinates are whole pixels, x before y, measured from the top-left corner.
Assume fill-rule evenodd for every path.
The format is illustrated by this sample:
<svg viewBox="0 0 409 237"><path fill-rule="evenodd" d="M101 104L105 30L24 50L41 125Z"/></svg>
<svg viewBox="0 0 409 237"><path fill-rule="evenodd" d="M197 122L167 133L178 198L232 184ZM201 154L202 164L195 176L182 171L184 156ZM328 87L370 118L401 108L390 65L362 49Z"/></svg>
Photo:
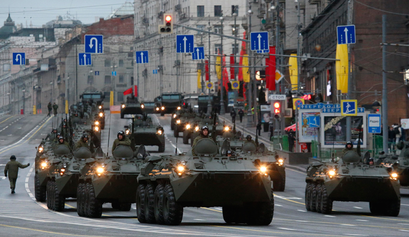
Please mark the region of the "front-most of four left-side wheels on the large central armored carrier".
<svg viewBox="0 0 409 237"><path fill-rule="evenodd" d="M165 224L179 225L183 218L183 207L176 202L173 187L167 184L163 191L162 210Z"/></svg>

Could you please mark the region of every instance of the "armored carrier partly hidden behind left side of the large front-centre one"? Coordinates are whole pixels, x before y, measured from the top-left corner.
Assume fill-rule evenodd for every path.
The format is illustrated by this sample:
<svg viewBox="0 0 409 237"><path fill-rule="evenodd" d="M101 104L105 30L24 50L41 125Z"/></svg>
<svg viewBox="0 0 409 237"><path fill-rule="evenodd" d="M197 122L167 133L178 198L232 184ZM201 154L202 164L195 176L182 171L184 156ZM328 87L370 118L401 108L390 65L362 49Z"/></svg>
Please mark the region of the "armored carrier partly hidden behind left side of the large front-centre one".
<svg viewBox="0 0 409 237"><path fill-rule="evenodd" d="M81 175L77 188L78 215L100 218L104 203L129 211L136 202L137 177L145 157L143 146L134 153L130 147L120 145L103 162L88 160L89 169Z"/></svg>

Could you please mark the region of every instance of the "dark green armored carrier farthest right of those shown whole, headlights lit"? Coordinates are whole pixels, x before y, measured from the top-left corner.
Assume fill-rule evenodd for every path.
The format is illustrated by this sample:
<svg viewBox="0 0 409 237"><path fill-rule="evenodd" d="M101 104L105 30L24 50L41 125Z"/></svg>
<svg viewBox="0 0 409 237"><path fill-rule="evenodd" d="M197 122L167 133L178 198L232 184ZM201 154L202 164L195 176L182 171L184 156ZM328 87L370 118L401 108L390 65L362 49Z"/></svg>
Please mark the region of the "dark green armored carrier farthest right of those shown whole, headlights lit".
<svg viewBox="0 0 409 237"><path fill-rule="evenodd" d="M305 207L330 214L333 201L369 202L372 214L396 217L400 185L393 174L383 165L363 163L354 151L346 152L338 162L313 162L305 179Z"/></svg>

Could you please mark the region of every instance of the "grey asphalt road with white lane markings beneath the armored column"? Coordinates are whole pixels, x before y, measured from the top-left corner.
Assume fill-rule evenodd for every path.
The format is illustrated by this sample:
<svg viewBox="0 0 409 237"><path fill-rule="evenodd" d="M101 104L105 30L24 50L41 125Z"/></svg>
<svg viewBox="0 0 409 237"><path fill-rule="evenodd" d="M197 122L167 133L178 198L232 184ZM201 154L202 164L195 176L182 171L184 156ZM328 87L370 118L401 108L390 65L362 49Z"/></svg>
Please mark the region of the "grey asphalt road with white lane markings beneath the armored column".
<svg viewBox="0 0 409 237"><path fill-rule="evenodd" d="M176 138L170 130L170 115L152 115L166 134L165 154L173 154ZM106 115L102 131L102 147L110 144L129 119L119 114ZM104 204L100 219L80 218L75 199L66 202L63 212L47 209L33 198L35 146L51 131L53 118L44 115L5 115L0 117L0 236L408 236L409 189L401 189L401 210L398 217L373 216L365 202L334 202L331 215L306 211L304 205L305 173L286 169L285 192L275 193L274 219L269 226L229 225L224 223L221 208L185 208L179 226L140 224L135 205L130 211L117 211ZM110 128L110 129L109 129ZM108 145L108 131L109 147ZM180 133L181 135L181 133ZM190 145L177 141L178 152ZM157 147L147 147L151 154ZM29 168L19 171L16 194L10 194L4 178L4 165L10 155ZM243 191L245 192L245 191Z"/></svg>

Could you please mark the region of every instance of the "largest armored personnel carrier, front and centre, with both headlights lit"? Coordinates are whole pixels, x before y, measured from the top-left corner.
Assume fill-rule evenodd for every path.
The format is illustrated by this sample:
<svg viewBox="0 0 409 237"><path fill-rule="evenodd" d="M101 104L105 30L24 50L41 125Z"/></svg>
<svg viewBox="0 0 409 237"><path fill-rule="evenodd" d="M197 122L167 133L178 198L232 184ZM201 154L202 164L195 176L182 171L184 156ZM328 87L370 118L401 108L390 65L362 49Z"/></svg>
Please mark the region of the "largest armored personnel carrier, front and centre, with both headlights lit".
<svg viewBox="0 0 409 237"><path fill-rule="evenodd" d="M147 158L138 176L139 222L179 225L184 207L221 206L226 223L271 223L274 197L267 167L224 156L209 138L199 140L194 153Z"/></svg>

